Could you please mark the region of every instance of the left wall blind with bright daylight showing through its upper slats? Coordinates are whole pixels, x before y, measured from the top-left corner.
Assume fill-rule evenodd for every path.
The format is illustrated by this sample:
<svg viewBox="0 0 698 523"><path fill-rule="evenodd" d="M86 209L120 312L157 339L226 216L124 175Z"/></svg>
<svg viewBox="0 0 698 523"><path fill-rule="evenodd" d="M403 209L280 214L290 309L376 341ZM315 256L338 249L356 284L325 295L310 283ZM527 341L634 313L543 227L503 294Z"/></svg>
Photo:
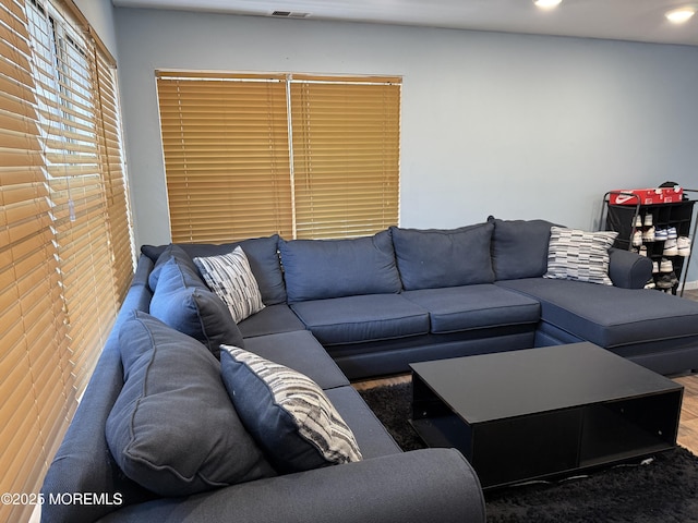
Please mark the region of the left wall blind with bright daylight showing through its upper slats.
<svg viewBox="0 0 698 523"><path fill-rule="evenodd" d="M82 390L118 309L94 48L48 5L31 4L29 13L72 372Z"/></svg>

